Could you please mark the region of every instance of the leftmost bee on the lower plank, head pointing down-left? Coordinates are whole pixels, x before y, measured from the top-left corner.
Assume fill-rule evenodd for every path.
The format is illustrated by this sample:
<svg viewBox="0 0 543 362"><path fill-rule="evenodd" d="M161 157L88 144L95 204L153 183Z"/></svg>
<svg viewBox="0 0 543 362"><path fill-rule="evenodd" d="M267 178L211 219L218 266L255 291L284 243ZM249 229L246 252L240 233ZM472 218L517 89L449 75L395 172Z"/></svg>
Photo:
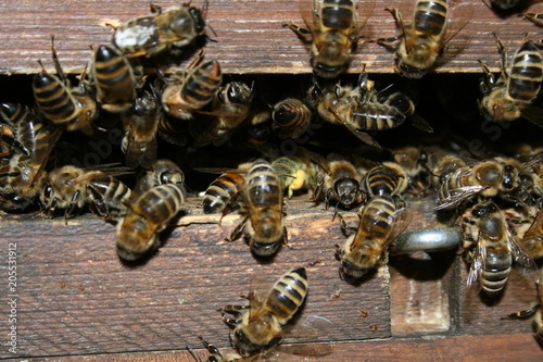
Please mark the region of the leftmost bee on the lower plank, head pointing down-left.
<svg viewBox="0 0 543 362"><path fill-rule="evenodd" d="M185 201L185 187L166 184L153 187L126 205L117 223L117 254L135 261L159 247L159 233L175 217Z"/></svg>

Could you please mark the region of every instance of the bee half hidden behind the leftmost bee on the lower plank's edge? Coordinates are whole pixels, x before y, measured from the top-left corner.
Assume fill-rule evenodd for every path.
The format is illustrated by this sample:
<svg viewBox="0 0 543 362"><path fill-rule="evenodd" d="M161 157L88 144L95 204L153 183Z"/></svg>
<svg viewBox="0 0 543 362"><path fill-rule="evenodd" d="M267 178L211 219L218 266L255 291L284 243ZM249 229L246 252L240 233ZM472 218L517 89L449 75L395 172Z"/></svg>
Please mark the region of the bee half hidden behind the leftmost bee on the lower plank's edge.
<svg viewBox="0 0 543 362"><path fill-rule="evenodd" d="M185 185L185 174L174 161L167 159L156 160L136 182L131 192L132 198L150 188L166 184Z"/></svg>

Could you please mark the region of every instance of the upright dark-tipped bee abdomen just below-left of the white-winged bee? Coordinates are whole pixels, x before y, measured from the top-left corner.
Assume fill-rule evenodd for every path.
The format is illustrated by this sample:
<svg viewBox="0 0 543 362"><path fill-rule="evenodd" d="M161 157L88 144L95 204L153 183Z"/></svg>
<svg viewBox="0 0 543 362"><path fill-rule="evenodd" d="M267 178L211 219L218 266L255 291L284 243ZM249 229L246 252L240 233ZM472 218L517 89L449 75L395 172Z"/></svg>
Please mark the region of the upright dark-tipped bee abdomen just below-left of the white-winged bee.
<svg viewBox="0 0 543 362"><path fill-rule="evenodd" d="M135 72L116 49L100 46L94 52L90 75L102 110L121 113L132 105L137 86Z"/></svg>

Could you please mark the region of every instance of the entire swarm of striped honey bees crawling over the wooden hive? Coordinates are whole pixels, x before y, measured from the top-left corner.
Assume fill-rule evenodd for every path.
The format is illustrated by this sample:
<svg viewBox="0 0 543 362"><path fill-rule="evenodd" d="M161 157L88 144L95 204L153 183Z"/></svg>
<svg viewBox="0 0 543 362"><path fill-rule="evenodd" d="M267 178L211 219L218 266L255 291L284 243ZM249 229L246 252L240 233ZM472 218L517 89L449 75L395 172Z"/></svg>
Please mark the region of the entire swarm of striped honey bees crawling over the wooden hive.
<svg viewBox="0 0 543 362"><path fill-rule="evenodd" d="M492 2L503 9L515 4ZM203 50L178 73L144 72L141 60L186 54L206 37L206 9L190 3L165 11L152 5L152 14L115 27L112 45L93 51L89 73L80 75L77 87L64 74L53 41L56 74L43 67L34 77L36 107L0 104L0 208L20 212L39 205L46 216L63 210L66 220L88 208L116 223L122 260L141 260L160 247L159 234L174 223L187 196L178 163L157 158L162 139L171 147L226 148L244 158L235 166L197 164L195 170L219 174L204 192L203 212L226 215L239 210L242 221L229 240L243 238L255 258L269 258L288 244L285 197L313 192L311 200L324 201L327 209L332 205L332 219L338 217L342 230L350 234L336 250L341 278L361 278L388 262L389 249L411 222L406 199L434 190L438 212L452 214L451 226L462 229L462 240L444 240L451 248L462 241L470 263L469 286L491 298L500 295L514 262L536 275L534 260L543 257L543 150L523 146L508 155L470 159L446 147L382 147L375 133L396 128L406 120L422 134L433 129L417 114L411 96L394 86L378 90L365 71L355 84L337 80L349 66L374 5L350 0L303 3L307 27L285 26L308 45L315 75L301 97L275 104L255 97L254 83L224 83L219 62L205 60ZM397 37L370 41L394 49L397 73L418 79L437 66L472 9L452 9L445 0L413 3L412 16L401 9L387 9L401 29ZM456 18L451 18L451 10ZM543 17L525 16L534 22ZM525 117L542 126L543 112L535 102L543 82L538 43L525 39L508 66L505 47L495 38L502 72L496 78L481 62L483 118ZM118 123L124 165L51 167L53 162L62 163L53 155L66 134L97 137ZM312 127L324 125L346 128L364 147L334 148L324 155L323 148L312 149L306 142L307 147L281 153L281 140L299 140ZM134 186L122 180L138 167L141 172ZM358 215L354 226L339 212L353 209ZM449 229L431 233L439 238ZM425 236L420 230L413 238ZM431 248L417 246L421 251ZM233 317L224 321L233 328L231 339L239 354L224 357L203 341L212 353L210 361L258 359L278 345L307 287L305 270L300 267L281 276L267 294L250 291L249 305L226 307L223 313ZM541 316L536 320L541 324Z"/></svg>

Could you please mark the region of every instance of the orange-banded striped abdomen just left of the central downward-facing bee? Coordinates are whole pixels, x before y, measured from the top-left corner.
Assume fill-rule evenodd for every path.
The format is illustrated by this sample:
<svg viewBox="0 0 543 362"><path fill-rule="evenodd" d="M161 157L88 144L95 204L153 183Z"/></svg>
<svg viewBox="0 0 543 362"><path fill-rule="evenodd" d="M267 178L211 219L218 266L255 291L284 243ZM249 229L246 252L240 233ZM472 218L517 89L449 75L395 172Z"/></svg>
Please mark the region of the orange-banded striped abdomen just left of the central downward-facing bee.
<svg viewBox="0 0 543 362"><path fill-rule="evenodd" d="M219 212L242 189L243 176L239 174L223 174L217 177L205 190L203 212L211 214Z"/></svg>

